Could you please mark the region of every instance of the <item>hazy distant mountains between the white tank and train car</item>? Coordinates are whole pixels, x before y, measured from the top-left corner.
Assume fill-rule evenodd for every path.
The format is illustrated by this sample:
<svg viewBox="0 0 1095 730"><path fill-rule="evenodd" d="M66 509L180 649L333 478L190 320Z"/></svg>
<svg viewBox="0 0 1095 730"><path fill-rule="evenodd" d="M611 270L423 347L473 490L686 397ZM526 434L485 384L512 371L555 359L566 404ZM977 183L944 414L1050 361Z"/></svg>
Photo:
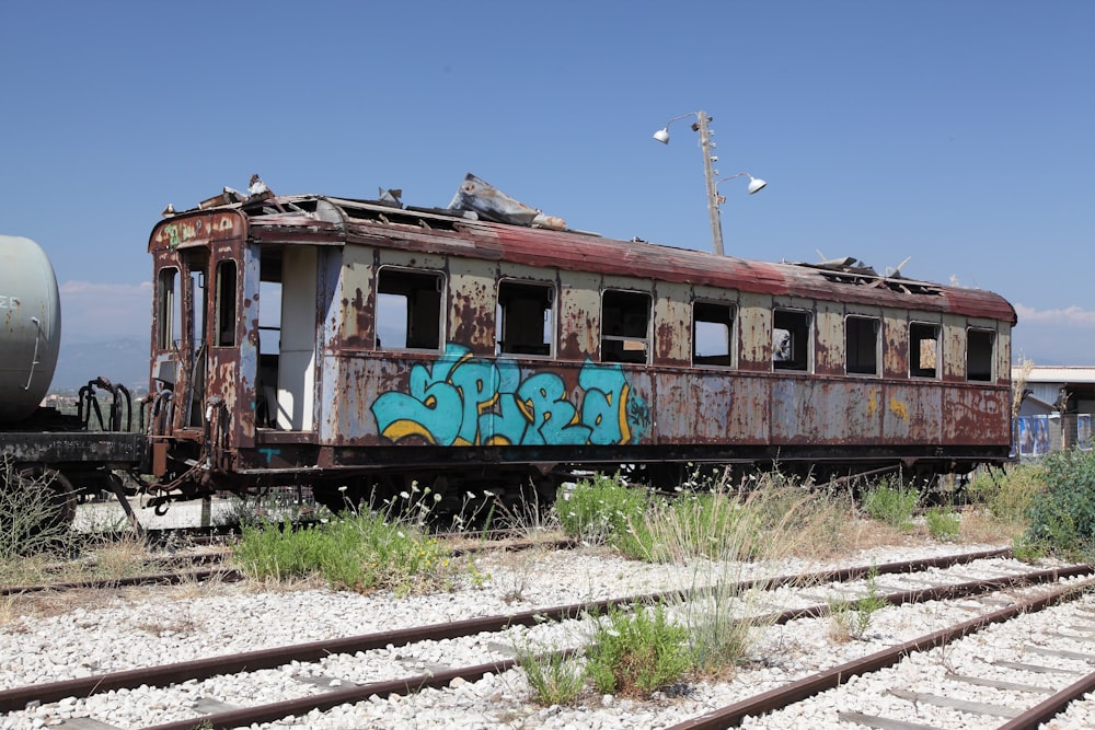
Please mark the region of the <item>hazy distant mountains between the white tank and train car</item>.
<svg viewBox="0 0 1095 730"><path fill-rule="evenodd" d="M67 343L61 340L51 393L79 391L88 381L106 378L130 390L148 387L148 340Z"/></svg>

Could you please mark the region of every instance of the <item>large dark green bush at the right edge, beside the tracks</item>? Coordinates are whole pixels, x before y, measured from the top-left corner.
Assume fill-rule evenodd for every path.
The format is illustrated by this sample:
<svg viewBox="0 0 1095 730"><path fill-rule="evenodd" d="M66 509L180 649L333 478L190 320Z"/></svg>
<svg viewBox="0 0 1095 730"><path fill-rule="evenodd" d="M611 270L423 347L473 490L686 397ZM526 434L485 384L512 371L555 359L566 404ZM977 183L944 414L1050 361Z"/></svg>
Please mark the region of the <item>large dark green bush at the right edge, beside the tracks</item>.
<svg viewBox="0 0 1095 730"><path fill-rule="evenodd" d="M1041 460L1046 489L1029 509L1027 538L1070 558L1095 556L1095 452L1056 451Z"/></svg>

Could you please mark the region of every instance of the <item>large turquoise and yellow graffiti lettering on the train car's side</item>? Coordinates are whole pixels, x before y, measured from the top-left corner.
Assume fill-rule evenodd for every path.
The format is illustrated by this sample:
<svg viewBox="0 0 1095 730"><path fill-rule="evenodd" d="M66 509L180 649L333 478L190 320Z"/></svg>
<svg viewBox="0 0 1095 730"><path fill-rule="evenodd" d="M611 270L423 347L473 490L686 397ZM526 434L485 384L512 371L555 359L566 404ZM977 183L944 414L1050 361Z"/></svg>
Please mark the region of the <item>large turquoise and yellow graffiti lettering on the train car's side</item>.
<svg viewBox="0 0 1095 730"><path fill-rule="evenodd" d="M619 364L587 359L572 402L554 372L522 375L509 359L475 358L450 343L431 367L412 368L407 392L372 404L380 433L436 445L574 445L631 443L645 431L645 406Z"/></svg>

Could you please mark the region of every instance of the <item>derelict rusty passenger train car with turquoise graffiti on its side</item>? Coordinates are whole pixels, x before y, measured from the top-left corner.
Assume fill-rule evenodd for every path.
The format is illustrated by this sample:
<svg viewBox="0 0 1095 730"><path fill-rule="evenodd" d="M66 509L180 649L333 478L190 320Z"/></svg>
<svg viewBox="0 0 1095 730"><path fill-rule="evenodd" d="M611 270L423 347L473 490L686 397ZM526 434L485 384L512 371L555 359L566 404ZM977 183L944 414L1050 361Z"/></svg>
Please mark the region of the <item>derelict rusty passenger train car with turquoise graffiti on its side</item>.
<svg viewBox="0 0 1095 730"><path fill-rule="evenodd" d="M989 291L260 188L149 240L158 500L1008 459L1016 316Z"/></svg>

